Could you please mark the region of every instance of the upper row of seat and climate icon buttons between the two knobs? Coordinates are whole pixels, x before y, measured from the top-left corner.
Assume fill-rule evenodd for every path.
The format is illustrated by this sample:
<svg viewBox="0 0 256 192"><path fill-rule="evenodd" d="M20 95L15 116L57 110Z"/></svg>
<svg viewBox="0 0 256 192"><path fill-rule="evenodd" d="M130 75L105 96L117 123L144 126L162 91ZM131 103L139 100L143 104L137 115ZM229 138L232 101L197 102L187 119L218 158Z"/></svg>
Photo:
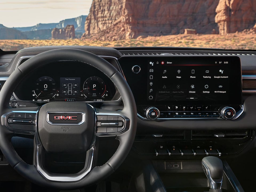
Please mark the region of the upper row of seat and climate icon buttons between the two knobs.
<svg viewBox="0 0 256 192"><path fill-rule="evenodd" d="M210 105L166 105L167 111L210 111Z"/></svg>

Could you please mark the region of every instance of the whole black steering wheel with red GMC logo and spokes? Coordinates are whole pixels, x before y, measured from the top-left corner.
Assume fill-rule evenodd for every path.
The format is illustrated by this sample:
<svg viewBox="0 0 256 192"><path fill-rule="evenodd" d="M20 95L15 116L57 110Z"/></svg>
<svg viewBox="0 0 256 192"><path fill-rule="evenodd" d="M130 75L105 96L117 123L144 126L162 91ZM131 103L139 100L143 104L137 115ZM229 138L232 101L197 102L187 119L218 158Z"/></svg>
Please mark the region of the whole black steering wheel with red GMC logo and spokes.
<svg viewBox="0 0 256 192"><path fill-rule="evenodd" d="M79 61L107 75L122 96L121 111L94 108L85 102L49 102L41 107L11 108L11 94L38 67L58 61ZM54 64L55 63L55 64ZM58 189L77 189L103 180L124 161L134 141L137 128L137 109L131 89L121 73L110 63L87 51L55 49L40 53L22 63L7 79L0 92L0 148L10 165L23 177L37 185ZM101 123L116 126L102 131ZM114 124L111 124L114 123ZM104 124L106 125L106 124ZM107 127L106 129L108 130ZM98 131L99 130L99 131ZM34 138L34 163L25 163L11 144L13 136ZM94 166L95 139L115 136L119 146L102 166ZM85 166L76 174L51 173L44 168L42 151L57 153L86 153ZM65 172L65 171L64 171Z"/></svg>

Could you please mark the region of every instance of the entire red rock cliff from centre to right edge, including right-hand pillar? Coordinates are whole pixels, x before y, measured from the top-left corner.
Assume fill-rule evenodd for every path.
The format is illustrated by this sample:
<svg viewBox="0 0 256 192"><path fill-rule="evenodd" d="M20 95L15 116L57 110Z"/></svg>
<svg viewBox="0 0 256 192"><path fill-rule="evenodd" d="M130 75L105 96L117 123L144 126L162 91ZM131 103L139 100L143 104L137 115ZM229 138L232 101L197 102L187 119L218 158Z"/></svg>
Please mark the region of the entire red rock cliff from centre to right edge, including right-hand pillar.
<svg viewBox="0 0 256 192"><path fill-rule="evenodd" d="M255 14L255 0L93 0L83 37L129 39L187 28L201 34L234 33L252 27Z"/></svg>

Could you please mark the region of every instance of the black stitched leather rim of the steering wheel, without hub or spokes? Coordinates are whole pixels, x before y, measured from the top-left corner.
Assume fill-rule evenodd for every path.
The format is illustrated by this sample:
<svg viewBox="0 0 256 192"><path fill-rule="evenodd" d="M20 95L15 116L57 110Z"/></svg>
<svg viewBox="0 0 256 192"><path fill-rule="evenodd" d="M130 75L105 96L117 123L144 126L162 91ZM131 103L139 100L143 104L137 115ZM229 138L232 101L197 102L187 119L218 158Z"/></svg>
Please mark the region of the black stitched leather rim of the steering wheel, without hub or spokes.
<svg viewBox="0 0 256 192"><path fill-rule="evenodd" d="M86 175L86 177L79 181L56 182L47 180L38 172L35 165L28 165L19 157L10 142L10 131L4 129L3 127L4 122L2 116L2 125L0 127L0 148L10 165L19 174L33 183L67 190L96 183L113 173L121 165L128 155L135 138L137 128L137 109L129 85L121 73L119 73L119 71L110 63L87 51L82 51L79 49L55 49L40 53L28 59L18 66L18 68L10 75L0 91L0 114L3 115L6 113L6 111L11 110L8 105L10 96L23 78L36 70L38 67L62 60L79 61L81 64L91 65L105 73L107 77L109 77L115 84L119 93L121 94L124 103L122 112L127 118L130 119L129 129L120 135L116 135L116 139L119 140L120 144L117 151L109 159L109 161L107 161L107 163L100 167L94 167Z"/></svg>

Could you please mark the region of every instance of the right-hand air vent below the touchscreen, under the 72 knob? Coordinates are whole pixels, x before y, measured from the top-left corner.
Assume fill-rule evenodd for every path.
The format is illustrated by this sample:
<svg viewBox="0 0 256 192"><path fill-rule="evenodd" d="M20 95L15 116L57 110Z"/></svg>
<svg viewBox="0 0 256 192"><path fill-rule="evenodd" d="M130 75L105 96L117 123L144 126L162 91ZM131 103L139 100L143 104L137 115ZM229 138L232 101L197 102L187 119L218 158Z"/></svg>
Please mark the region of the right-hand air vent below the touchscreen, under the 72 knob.
<svg viewBox="0 0 256 192"><path fill-rule="evenodd" d="M250 130L193 130L192 139L245 139Z"/></svg>

